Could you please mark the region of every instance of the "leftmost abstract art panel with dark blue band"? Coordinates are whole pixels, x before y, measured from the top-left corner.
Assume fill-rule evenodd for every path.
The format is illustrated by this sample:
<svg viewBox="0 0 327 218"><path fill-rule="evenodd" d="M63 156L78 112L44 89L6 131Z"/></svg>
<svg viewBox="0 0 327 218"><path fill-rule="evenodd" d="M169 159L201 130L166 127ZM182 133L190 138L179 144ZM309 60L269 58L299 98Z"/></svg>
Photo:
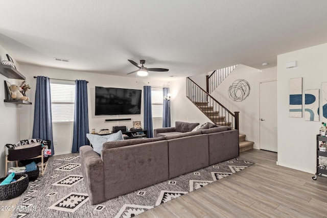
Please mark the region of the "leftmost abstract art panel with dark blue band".
<svg viewBox="0 0 327 218"><path fill-rule="evenodd" d="M302 77L290 79L290 117L302 117Z"/></svg>

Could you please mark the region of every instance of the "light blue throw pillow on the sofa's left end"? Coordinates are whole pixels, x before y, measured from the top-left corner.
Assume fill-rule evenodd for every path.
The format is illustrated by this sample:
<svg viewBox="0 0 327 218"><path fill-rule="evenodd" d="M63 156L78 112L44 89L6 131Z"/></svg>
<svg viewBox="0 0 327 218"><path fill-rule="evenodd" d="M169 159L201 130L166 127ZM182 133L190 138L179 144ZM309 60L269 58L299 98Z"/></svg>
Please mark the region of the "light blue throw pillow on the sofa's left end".
<svg viewBox="0 0 327 218"><path fill-rule="evenodd" d="M95 135L87 133L86 137L92 144L93 151L97 152L99 155L101 155L104 142L124 140L123 133L121 130L110 135Z"/></svg>

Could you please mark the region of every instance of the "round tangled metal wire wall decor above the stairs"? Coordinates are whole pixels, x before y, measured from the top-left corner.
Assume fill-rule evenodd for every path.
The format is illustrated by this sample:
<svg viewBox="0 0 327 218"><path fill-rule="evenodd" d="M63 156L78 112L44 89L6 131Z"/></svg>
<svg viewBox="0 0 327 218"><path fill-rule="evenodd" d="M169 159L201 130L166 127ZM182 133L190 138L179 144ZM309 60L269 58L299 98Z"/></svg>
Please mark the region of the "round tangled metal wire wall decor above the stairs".
<svg viewBox="0 0 327 218"><path fill-rule="evenodd" d="M228 89L229 98L242 102L250 94L250 84L246 80L235 80Z"/></svg>

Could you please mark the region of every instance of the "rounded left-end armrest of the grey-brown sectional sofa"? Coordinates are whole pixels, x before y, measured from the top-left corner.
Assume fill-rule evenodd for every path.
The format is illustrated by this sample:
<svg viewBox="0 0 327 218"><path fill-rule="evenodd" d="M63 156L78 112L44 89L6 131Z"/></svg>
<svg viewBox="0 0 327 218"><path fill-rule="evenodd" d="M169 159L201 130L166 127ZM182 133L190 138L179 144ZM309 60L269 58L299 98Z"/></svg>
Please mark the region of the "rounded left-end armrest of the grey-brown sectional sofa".
<svg viewBox="0 0 327 218"><path fill-rule="evenodd" d="M104 166L98 153L90 146L80 148L81 167L88 197L92 205L105 201Z"/></svg>

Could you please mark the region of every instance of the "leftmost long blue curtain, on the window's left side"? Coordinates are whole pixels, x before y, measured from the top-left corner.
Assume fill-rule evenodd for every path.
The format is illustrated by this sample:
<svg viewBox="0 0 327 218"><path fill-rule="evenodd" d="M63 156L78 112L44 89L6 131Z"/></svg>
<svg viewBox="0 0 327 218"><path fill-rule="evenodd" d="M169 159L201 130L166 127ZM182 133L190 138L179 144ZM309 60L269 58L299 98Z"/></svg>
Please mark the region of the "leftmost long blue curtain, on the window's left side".
<svg viewBox="0 0 327 218"><path fill-rule="evenodd" d="M51 140L51 156L55 154L52 135L52 114L50 79L38 76L36 78L33 138Z"/></svg>

